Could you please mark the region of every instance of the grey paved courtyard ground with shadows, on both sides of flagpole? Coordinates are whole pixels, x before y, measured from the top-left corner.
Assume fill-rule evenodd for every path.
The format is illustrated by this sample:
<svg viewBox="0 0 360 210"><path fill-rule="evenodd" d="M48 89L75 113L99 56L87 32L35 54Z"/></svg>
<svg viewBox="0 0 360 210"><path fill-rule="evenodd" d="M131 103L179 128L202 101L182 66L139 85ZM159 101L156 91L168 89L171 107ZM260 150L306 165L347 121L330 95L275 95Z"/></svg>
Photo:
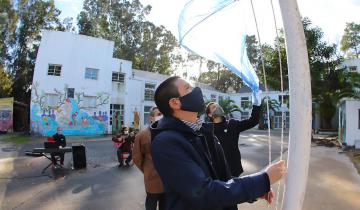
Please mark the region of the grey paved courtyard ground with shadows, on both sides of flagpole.
<svg viewBox="0 0 360 210"><path fill-rule="evenodd" d="M272 131L272 159L280 154L279 136ZM42 141L35 139L24 146L0 142L0 209L144 209L142 174L134 166L118 168L110 137L68 137L68 145L85 144L87 168L73 170L68 153L66 169L50 169L45 174L41 170L48 164L47 159L24 155L41 146ZM267 132L244 132L239 146L247 173L268 164ZM284 146L286 151L286 140ZM312 147L304 210L360 209L360 176L339 151ZM265 201L239 205L240 210L267 208ZM274 205L269 209L275 209Z"/></svg>

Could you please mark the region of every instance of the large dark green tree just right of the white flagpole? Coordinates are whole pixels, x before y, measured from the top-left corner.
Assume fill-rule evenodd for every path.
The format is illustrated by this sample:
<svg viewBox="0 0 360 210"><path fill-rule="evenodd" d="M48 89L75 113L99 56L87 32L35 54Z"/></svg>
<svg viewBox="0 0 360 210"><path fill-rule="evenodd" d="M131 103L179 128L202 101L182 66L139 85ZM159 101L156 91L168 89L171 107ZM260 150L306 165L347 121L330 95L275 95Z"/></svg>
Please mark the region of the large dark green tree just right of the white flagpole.
<svg viewBox="0 0 360 210"><path fill-rule="evenodd" d="M317 111L321 116L321 128L329 129L338 102L344 97L358 97L359 76L336 70L343 61L337 55L336 45L322 41L322 30L313 27L309 19L305 18L303 25L309 53L312 98L319 104Z"/></svg>

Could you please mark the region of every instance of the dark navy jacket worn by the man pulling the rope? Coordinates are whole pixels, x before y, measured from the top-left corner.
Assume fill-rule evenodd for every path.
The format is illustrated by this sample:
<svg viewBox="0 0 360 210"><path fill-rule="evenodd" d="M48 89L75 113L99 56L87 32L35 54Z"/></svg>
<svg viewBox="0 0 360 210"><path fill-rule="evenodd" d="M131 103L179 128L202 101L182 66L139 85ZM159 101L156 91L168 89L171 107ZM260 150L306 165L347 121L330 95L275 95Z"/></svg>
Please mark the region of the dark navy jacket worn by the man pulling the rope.
<svg viewBox="0 0 360 210"><path fill-rule="evenodd" d="M167 210L224 210L270 190L266 173L230 178L212 127L203 124L201 132L194 132L173 117L152 125L151 152L164 183Z"/></svg>

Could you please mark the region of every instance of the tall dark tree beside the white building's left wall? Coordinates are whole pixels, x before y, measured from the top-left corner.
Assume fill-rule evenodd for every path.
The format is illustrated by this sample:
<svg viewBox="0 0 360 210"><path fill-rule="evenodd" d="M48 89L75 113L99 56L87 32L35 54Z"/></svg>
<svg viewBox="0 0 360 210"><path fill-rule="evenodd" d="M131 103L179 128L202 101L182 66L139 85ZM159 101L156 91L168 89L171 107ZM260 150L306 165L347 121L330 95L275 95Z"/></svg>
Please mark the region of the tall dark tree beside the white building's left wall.
<svg viewBox="0 0 360 210"><path fill-rule="evenodd" d="M13 52L9 67L13 78L15 100L30 102L35 59L42 29L61 28L54 1L20 0L16 4L18 15L16 33L13 34Z"/></svg>

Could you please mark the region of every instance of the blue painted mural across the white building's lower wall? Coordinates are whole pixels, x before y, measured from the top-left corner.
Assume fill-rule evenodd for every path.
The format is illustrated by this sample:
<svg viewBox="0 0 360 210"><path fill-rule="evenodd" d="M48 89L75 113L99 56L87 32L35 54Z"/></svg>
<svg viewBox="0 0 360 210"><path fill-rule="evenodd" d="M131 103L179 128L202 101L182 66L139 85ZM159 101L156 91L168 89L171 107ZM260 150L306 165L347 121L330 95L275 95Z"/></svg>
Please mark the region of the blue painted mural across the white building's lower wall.
<svg viewBox="0 0 360 210"><path fill-rule="evenodd" d="M74 98L54 89L58 102L47 105L46 94L39 93L38 84L33 85L31 106L31 130L43 136L50 136L61 127L64 135L99 135L108 132L109 116L107 110L100 110L103 105L108 107L110 95L105 92L93 97L93 104L86 104L85 94L75 92Z"/></svg>

